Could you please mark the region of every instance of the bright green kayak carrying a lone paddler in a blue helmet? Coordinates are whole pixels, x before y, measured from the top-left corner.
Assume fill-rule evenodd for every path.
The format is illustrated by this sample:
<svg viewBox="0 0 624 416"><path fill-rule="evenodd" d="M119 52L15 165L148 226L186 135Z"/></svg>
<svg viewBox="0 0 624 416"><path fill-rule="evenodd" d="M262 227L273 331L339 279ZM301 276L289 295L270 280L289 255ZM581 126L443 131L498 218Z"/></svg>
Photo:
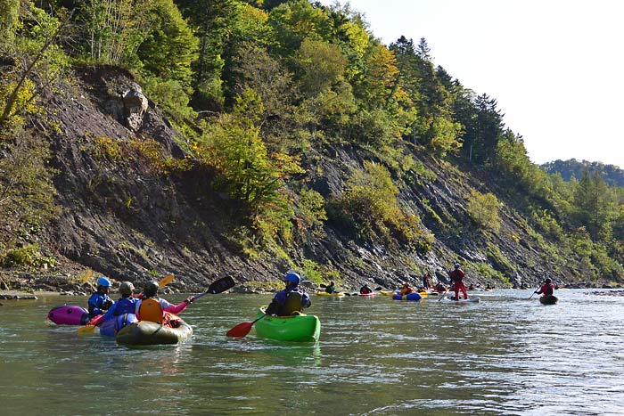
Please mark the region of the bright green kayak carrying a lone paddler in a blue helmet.
<svg viewBox="0 0 624 416"><path fill-rule="evenodd" d="M261 306L256 318L263 316L267 306ZM254 325L260 338L278 341L311 342L321 334L321 322L315 315L265 316Z"/></svg>

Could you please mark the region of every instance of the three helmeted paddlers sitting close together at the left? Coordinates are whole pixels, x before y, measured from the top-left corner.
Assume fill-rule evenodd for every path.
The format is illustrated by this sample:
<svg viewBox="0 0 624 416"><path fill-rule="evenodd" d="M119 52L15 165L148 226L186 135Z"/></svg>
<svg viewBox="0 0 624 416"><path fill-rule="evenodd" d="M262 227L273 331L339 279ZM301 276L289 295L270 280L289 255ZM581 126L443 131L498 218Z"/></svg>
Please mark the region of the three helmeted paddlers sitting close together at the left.
<svg viewBox="0 0 624 416"><path fill-rule="evenodd" d="M135 286L131 281L124 281L119 285L121 298L113 301L108 293L111 281L102 276L96 281L97 289L89 298L88 313L90 322L101 323L116 318L122 314L135 314L139 321L165 323L169 314L180 314L191 302L193 297L186 298L178 305L170 304L167 300L158 297L160 286L158 281L148 281L144 285L143 293L135 296ZM94 321L95 320L95 321Z"/></svg>

